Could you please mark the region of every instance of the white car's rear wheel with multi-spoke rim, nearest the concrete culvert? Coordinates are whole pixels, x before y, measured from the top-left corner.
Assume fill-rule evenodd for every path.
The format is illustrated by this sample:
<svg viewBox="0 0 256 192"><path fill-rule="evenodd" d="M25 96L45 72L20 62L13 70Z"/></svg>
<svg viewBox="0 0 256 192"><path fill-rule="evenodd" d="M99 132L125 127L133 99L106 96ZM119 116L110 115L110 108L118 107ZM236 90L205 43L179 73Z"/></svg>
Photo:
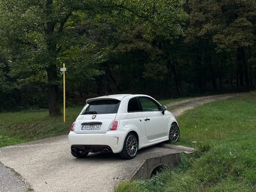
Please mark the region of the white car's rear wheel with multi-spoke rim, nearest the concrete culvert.
<svg viewBox="0 0 256 192"><path fill-rule="evenodd" d="M120 157L126 160L136 157L139 147L139 139L134 133L128 133L123 142L123 150L120 152Z"/></svg>

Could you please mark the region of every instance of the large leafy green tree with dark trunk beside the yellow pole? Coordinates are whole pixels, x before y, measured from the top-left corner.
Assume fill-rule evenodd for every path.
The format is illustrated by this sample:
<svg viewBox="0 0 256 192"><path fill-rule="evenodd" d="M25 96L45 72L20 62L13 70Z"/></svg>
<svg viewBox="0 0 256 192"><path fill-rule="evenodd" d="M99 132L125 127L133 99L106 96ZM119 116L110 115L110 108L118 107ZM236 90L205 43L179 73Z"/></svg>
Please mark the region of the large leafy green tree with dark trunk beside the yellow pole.
<svg viewBox="0 0 256 192"><path fill-rule="evenodd" d="M130 25L140 23L147 41L157 36L172 40L182 33L180 22L186 15L183 3L2 1L0 31L5 37L2 47L8 52L10 73L18 84L47 86L49 112L59 114L58 68L62 62L69 66L70 89L89 92L92 87L88 89L84 84L107 73L97 64L104 63L117 45L111 42L113 31L120 34Z"/></svg>

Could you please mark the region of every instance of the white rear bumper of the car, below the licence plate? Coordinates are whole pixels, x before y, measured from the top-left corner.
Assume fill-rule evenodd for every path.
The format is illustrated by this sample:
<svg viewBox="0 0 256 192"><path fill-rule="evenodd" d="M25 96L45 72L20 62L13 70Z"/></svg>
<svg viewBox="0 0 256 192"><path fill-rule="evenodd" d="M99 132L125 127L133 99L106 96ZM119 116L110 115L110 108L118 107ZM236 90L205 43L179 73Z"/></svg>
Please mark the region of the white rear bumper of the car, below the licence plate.
<svg viewBox="0 0 256 192"><path fill-rule="evenodd" d="M71 131L69 133L69 145L108 146L114 154L117 154L123 149L125 135L125 132L121 130L95 134L77 134Z"/></svg>

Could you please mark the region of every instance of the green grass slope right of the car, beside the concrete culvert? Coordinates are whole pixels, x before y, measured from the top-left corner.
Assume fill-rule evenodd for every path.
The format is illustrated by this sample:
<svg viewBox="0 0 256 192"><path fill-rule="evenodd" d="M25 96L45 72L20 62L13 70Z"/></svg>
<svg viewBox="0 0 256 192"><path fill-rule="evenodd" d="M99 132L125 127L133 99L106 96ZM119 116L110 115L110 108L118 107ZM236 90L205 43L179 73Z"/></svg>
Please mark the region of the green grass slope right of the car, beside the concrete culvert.
<svg viewBox="0 0 256 192"><path fill-rule="evenodd" d="M256 93L201 105L178 117L178 145L194 147L179 166L116 191L255 191Z"/></svg>

